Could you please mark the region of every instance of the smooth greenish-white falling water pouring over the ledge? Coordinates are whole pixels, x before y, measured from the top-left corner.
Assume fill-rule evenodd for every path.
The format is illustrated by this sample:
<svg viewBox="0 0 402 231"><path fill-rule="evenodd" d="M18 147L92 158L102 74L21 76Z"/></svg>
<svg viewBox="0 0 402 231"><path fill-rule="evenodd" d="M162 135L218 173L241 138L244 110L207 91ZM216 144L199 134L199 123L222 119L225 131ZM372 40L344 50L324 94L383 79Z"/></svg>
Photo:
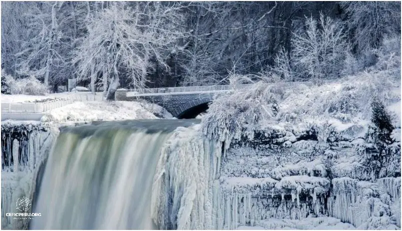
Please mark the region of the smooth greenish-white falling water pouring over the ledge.
<svg viewBox="0 0 402 231"><path fill-rule="evenodd" d="M150 216L160 148L196 120L63 128L48 158L31 229L157 229Z"/></svg>

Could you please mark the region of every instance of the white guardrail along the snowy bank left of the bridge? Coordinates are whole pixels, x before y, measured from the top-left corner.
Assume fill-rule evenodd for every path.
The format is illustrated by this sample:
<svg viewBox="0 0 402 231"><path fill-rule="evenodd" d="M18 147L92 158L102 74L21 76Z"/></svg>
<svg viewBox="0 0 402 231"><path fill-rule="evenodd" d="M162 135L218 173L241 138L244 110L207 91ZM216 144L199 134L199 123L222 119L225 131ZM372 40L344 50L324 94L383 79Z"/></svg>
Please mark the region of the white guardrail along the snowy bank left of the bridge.
<svg viewBox="0 0 402 231"><path fill-rule="evenodd" d="M62 107L76 101L102 100L103 95L93 93L76 93L45 102L9 102L1 103L1 112L9 113L41 113L54 108Z"/></svg>

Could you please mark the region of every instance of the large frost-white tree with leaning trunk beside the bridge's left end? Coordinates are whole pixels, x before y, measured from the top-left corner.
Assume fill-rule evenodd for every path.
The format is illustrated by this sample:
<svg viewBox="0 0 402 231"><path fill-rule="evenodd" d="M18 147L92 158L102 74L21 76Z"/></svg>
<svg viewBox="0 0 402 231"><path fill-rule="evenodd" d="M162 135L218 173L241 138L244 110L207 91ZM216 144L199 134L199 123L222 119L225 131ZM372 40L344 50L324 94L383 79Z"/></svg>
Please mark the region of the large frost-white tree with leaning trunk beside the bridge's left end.
<svg viewBox="0 0 402 231"><path fill-rule="evenodd" d="M173 6L160 2L114 2L90 18L88 35L75 54L79 79L91 79L100 73L100 85L111 99L121 81L131 87L144 87L153 67L151 58L168 68L166 50L181 34L175 30L179 14ZM93 90L93 87L92 87Z"/></svg>

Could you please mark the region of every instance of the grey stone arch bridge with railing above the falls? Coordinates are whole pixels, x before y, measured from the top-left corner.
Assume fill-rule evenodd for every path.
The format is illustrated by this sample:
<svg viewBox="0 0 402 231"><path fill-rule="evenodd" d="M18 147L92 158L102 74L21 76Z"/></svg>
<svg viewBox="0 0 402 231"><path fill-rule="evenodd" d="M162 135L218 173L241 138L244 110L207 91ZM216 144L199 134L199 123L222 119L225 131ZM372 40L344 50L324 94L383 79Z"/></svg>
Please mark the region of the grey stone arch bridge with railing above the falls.
<svg viewBox="0 0 402 231"><path fill-rule="evenodd" d="M246 89L250 85L252 84L119 89L115 93L115 99L128 101L145 99L164 107L178 119L190 119L206 111L208 103L216 96L233 89Z"/></svg>

